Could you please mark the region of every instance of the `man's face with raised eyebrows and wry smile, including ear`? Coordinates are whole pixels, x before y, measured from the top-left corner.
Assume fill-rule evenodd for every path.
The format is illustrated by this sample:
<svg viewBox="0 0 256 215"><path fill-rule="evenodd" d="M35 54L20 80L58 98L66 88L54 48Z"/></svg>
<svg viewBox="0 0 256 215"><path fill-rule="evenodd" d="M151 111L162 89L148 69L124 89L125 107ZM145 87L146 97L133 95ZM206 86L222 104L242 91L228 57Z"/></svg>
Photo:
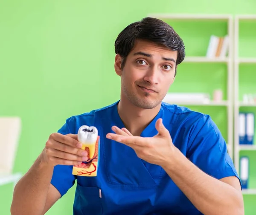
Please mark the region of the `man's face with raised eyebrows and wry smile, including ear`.
<svg viewBox="0 0 256 215"><path fill-rule="evenodd" d="M155 108L175 79L176 59L177 51L137 41L122 70L121 57L116 55L115 69L121 76L121 94L139 108Z"/></svg>

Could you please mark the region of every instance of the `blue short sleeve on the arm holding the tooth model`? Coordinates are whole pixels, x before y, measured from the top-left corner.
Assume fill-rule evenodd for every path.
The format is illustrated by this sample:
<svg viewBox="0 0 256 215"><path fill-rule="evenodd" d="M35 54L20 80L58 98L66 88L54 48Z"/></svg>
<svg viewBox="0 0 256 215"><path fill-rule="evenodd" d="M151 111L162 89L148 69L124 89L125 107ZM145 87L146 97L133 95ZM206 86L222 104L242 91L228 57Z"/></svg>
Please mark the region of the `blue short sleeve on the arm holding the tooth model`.
<svg viewBox="0 0 256 215"><path fill-rule="evenodd" d="M58 133L68 134L75 130L75 118L70 117L66 123L58 130ZM72 175L73 166L56 165L53 170L51 184L60 192L61 197L73 187L76 176Z"/></svg>

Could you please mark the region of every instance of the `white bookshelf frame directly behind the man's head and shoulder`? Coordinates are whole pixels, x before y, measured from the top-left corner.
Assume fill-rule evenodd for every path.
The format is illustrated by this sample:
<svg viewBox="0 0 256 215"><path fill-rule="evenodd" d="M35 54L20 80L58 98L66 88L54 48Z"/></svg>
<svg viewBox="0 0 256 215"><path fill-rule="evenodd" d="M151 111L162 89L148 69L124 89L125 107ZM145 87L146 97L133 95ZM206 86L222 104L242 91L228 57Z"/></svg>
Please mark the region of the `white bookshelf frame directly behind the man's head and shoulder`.
<svg viewBox="0 0 256 215"><path fill-rule="evenodd" d="M233 16L229 14L149 14L148 17L155 17L165 20L195 20L214 21L222 20L227 22L227 34L229 44L233 44ZM209 38L210 39L210 38ZM177 105L194 106L225 106L227 108L227 144L228 151L233 159L233 45L229 45L227 57L204 57L204 56L186 56L183 63L225 63L227 65L227 101L215 102L180 102L165 101Z"/></svg>

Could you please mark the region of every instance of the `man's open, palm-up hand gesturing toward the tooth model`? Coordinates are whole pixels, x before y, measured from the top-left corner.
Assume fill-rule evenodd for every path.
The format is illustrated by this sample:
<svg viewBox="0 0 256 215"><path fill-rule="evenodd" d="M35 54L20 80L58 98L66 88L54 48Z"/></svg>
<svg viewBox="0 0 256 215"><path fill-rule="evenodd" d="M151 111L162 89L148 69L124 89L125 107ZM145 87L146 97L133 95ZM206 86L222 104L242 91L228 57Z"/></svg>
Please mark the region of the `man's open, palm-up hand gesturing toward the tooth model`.
<svg viewBox="0 0 256 215"><path fill-rule="evenodd" d="M162 119L157 119L155 127L158 133L153 137L132 136L126 128L116 126L112 127L115 133L108 133L106 137L133 148L137 156L148 163L161 166L171 158L175 146Z"/></svg>

